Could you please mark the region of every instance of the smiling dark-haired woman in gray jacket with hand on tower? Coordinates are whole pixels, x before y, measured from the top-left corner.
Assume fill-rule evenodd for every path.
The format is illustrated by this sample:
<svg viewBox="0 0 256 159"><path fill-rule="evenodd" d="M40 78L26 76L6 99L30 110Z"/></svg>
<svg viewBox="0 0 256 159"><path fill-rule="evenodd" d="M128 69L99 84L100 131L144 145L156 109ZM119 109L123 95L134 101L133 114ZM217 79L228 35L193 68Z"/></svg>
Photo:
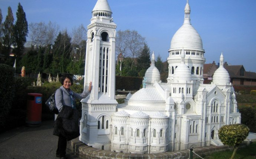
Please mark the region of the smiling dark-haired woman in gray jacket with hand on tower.
<svg viewBox="0 0 256 159"><path fill-rule="evenodd" d="M76 109L75 98L82 99L87 97L92 89L92 82L90 82L88 90L82 94L77 94L70 89L71 85L73 85L73 79L70 76L64 75L60 79L60 83L62 86L55 92L55 102L59 114L55 121L53 135L59 136L56 156L65 159L67 141L80 135L79 112Z"/></svg>

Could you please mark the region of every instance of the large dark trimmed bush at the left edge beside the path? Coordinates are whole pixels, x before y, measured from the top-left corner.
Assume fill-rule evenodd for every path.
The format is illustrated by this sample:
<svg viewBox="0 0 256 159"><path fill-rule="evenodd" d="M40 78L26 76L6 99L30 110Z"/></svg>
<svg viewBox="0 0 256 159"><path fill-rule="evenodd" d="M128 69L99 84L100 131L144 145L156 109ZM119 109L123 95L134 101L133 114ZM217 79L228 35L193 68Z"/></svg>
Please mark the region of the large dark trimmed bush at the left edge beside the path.
<svg viewBox="0 0 256 159"><path fill-rule="evenodd" d="M4 126L15 93L14 68L0 64L0 126Z"/></svg>

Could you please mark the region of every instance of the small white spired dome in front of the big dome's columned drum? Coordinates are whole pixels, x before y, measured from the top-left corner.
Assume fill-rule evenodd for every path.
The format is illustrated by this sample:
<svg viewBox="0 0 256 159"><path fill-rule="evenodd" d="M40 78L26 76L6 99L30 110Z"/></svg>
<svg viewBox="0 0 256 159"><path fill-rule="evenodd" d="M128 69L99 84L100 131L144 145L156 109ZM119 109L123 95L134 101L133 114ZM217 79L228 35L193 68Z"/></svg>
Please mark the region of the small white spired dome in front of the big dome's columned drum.
<svg viewBox="0 0 256 159"><path fill-rule="evenodd" d="M177 81L191 81L192 80L192 75L190 72L190 69L185 65L184 62L185 58L185 52L184 50L181 51L181 62L178 65L178 67L175 69L174 74L173 74L173 80Z"/></svg>

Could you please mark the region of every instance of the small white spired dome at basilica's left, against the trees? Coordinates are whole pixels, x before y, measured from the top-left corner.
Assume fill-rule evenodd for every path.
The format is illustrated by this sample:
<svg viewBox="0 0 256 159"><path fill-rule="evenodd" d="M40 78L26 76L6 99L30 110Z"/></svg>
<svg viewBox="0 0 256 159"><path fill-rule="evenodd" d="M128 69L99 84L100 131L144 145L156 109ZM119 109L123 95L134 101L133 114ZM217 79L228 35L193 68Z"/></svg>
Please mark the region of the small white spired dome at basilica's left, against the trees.
<svg viewBox="0 0 256 159"><path fill-rule="evenodd" d="M145 82L146 83L154 83L155 81L160 81L160 72L155 67L154 52L151 56L151 66L147 69L144 77L145 77Z"/></svg>

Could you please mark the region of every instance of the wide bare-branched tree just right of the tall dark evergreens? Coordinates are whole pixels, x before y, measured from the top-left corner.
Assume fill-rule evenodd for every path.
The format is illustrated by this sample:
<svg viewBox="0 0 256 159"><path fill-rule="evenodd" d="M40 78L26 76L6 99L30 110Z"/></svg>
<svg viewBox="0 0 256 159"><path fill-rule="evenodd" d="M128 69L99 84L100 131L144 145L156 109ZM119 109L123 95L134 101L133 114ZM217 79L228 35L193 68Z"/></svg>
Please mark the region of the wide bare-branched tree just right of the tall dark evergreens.
<svg viewBox="0 0 256 159"><path fill-rule="evenodd" d="M30 23L29 30L31 45L45 46L54 43L54 40L59 32L59 26L51 21L49 21L48 24L45 24L45 22Z"/></svg>

